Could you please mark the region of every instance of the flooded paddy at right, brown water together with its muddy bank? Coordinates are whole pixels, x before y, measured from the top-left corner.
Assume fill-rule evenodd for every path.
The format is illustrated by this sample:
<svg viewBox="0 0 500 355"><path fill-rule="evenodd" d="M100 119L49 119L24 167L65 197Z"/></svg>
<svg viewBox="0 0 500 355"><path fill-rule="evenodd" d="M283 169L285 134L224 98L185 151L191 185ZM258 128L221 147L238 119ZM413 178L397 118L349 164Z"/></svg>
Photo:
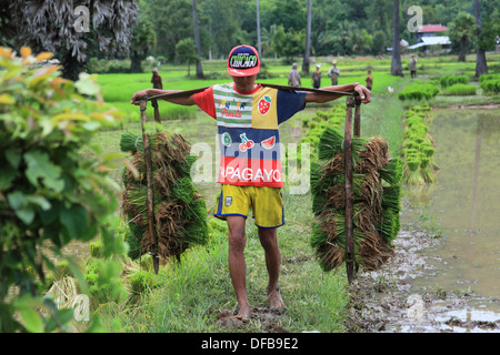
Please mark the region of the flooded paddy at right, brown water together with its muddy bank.
<svg viewBox="0 0 500 355"><path fill-rule="evenodd" d="M500 110L434 110L430 134L437 182L404 189L397 256L361 275L354 318L366 332L500 332Z"/></svg>

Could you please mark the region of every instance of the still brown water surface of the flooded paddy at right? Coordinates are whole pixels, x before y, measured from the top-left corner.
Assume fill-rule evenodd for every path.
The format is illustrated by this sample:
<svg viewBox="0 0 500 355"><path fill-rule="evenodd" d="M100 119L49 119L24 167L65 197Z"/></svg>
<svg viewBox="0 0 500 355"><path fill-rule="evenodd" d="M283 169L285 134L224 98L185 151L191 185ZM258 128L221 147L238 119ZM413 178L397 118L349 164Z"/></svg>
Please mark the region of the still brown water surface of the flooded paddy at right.
<svg viewBox="0 0 500 355"><path fill-rule="evenodd" d="M409 190L424 204L444 237L428 252L434 274L422 284L448 292L471 288L500 311L500 110L437 110L431 135L441 166L433 191ZM404 214L404 212L403 212ZM411 219L403 215L402 219ZM418 286L418 283L416 286Z"/></svg>

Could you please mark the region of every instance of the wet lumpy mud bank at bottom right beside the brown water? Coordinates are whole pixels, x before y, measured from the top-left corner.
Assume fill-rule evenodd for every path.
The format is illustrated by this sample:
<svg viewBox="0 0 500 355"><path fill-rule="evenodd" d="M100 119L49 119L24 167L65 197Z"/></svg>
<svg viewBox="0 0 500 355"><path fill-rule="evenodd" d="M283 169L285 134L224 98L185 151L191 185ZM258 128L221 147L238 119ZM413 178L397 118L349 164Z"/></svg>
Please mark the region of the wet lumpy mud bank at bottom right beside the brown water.
<svg viewBox="0 0 500 355"><path fill-rule="evenodd" d="M403 226L396 242L396 256L381 271L360 273L353 282L349 332L500 332L498 313L474 308L480 297L472 291L414 290L413 280L432 273L426 251L436 243L440 241ZM487 301L499 305L499 300Z"/></svg>

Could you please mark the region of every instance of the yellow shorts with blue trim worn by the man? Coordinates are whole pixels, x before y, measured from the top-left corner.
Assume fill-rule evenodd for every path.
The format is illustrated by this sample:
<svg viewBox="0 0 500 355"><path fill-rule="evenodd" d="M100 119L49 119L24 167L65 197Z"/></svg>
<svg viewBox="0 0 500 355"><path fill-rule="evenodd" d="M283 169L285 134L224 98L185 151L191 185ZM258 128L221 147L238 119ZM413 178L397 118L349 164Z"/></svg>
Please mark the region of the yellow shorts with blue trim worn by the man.
<svg viewBox="0 0 500 355"><path fill-rule="evenodd" d="M276 229L284 224L283 199L280 187L221 185L216 217L226 220L228 215L248 217L250 207L256 225Z"/></svg>

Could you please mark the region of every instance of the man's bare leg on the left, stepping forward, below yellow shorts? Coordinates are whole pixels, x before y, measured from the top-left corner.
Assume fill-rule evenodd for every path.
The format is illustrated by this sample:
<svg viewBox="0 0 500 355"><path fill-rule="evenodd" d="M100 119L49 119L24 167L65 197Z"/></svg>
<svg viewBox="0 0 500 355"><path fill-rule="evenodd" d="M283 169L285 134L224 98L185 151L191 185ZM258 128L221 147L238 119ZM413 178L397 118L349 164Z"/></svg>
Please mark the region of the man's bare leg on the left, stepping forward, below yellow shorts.
<svg viewBox="0 0 500 355"><path fill-rule="evenodd" d="M227 217L229 227L229 274L231 275L232 286L238 300L238 317L248 320L250 317L250 304L247 298L247 280L244 264L244 245L247 236L244 235L246 219L239 215L229 215Z"/></svg>

